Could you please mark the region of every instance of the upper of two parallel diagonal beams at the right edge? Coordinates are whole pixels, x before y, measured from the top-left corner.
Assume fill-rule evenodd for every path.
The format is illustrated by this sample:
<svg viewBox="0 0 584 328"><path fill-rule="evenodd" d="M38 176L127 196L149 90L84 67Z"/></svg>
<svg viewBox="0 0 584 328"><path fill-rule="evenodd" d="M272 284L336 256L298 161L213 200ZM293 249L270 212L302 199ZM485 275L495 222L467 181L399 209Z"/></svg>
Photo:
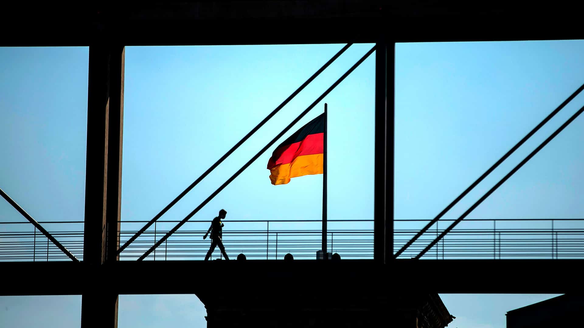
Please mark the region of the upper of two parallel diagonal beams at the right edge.
<svg viewBox="0 0 584 328"><path fill-rule="evenodd" d="M433 218L432 221L428 222L428 224L422 230L420 230L418 233L416 233L416 235L413 236L413 238L411 240L409 240L409 242L405 243L405 245L403 247L401 247L401 249L399 249L397 253L394 254L394 259L397 259L397 257L399 255L401 255L401 253L404 253L404 251L406 249L408 249L408 247L411 246L416 240L418 240L418 238L420 238L420 236L422 236L428 229L430 229L430 227L432 225L434 225L436 222L438 222L438 220L440 218L442 218L444 216L444 214L446 214L446 212L450 211L450 209L453 208L454 205L456 205L458 203L458 201L463 199L464 196L467 196L467 194L470 193L470 191L472 189L474 189L474 187L476 187L477 184L481 183L481 181L484 180L486 176L491 174L491 172L493 172L493 170L495 170L501 163L503 163L503 161L505 161L507 158L509 158L509 156L511 156L512 153L517 150L517 148L519 148L521 145L523 145L524 142L527 141L527 139L531 138L532 135L534 135L538 130L540 130L540 128L543 127L545 125L545 123L548 123L548 121L550 121L551 118L555 116L555 114L559 113L559 111L562 110L566 106L566 104L571 102L572 99L574 99L576 96L578 96L579 93L582 92L582 90L584 90L584 84L581 85L580 88L578 88L575 92L573 92L572 95L570 95L566 100L564 100L564 102L561 103L547 117L545 117L544 120L540 122L540 124L537 124L537 126L534 127L533 130L531 130L525 137L523 137L523 139L521 139L519 142L517 142L517 144L515 146L513 146L513 148L509 149L509 151L507 151L505 153L505 155L503 155L495 164L493 164L491 166L491 168L486 170L485 173L482 173L482 175L475 182L473 182L470 186L468 186L468 188L466 190L464 190L463 193L458 195L458 197L456 197L456 199L453 200L452 203L450 203L446 208L444 208L444 210L442 210L442 212L440 212L438 215L436 215L436 217Z"/></svg>

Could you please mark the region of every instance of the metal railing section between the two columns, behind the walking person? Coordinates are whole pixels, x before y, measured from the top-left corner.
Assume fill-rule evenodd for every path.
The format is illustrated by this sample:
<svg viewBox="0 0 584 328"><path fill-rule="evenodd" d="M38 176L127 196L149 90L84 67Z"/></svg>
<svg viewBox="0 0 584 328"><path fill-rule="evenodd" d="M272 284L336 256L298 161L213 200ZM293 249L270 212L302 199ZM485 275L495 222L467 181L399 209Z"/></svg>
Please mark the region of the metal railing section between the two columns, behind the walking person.
<svg viewBox="0 0 584 328"><path fill-rule="evenodd" d="M134 240L120 254L121 260L138 259L164 236L178 221L158 221ZM245 220L224 221L223 244L230 259L245 254L246 259L283 259L291 253L294 259L316 259L322 248L320 220ZM328 252L342 254L343 259L373 259L373 220L329 220ZM144 221L122 224L140 226ZM189 221L152 252L148 260L204 259L210 239L203 240L209 221ZM346 225L355 225L347 229ZM370 229L366 229L370 226ZM137 231L137 230L136 230ZM136 232L122 229L121 243ZM223 259L218 247L211 259Z"/></svg>

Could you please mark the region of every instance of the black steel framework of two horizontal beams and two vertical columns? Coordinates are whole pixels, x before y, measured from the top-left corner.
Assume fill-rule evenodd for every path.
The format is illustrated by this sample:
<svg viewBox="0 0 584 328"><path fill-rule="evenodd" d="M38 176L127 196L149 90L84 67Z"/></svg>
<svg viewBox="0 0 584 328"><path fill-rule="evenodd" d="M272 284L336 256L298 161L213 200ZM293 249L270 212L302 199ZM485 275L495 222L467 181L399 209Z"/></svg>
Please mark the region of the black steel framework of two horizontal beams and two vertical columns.
<svg viewBox="0 0 584 328"><path fill-rule="evenodd" d="M582 260L553 260L550 264L548 260L412 261L392 256L395 43L584 39L579 11L570 6L422 0L5 5L4 12L10 13L12 20L0 22L2 30L10 31L0 46L89 46L89 88L84 260L2 263L2 272L11 284L0 294L81 294L82 326L116 327L119 294L196 294L199 288L196 284L187 288L152 284L152 275L144 272L170 282L177 271L193 272L197 278L197 272L206 277L210 271L225 272L238 266L249 281L257 280L261 271L263 283L266 278L297 278L297 273L310 268L324 276L335 275L333 283L375 279L380 290L387 291L581 289L577 268ZM374 260L293 264L269 260L118 261L124 46L298 43L376 43ZM46 273L51 283L30 284L25 277L37 270ZM469 271L474 279L462 282ZM297 283L309 281L298 278Z"/></svg>

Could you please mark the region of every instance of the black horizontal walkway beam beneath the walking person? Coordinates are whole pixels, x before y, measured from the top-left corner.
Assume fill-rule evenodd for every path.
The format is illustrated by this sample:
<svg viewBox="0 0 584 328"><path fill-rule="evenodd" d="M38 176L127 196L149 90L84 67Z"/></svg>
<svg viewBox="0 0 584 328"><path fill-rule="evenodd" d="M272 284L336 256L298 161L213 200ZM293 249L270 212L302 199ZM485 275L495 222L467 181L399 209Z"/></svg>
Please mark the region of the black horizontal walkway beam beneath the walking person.
<svg viewBox="0 0 584 328"><path fill-rule="evenodd" d="M258 286L314 288L316 277L329 277L328 288L437 293L554 293L584 291L579 268L584 260L394 260L390 267L374 260L217 260L120 261L92 266L67 262L0 264L7 283L0 295L205 294L209 277L221 277L226 291ZM43 284L31 284L31 273ZM150 274L156 272L157 278ZM177 272L189 272L176 281ZM120 274L123 273L123 274ZM314 274L311 274L314 273ZM99 277L107 283L96 285ZM235 288L235 289L234 289Z"/></svg>

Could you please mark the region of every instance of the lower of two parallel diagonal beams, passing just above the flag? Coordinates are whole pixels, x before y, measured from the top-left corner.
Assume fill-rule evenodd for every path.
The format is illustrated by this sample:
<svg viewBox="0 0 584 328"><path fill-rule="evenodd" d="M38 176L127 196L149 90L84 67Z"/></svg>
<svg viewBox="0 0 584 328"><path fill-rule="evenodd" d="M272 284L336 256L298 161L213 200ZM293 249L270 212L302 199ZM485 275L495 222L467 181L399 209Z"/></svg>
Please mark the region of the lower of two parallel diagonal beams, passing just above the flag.
<svg viewBox="0 0 584 328"><path fill-rule="evenodd" d="M164 240L168 239L183 224L185 224L187 221L189 221L189 219L192 218L194 214L199 212L199 210L201 208L203 208L204 205L206 205L215 196L217 196L217 194L220 193L221 190L223 190L225 187L227 187L227 185L230 184L236 177L238 177L241 174L241 172L244 172L244 170L246 168L248 168L249 165L251 165L253 162L255 162L255 160L258 159L259 156L262 155L262 153L264 153L268 148L270 148L270 146L272 146L276 141L278 141L278 139L280 139L288 130L290 130L290 128L292 128L294 126L294 124L298 123L298 121L300 121L306 114L308 114L308 111L310 111L314 106L317 106L317 104L322 99L324 99L324 97L326 97L326 95L331 93L331 91L333 89L335 89L336 86L338 86L340 82L342 82L347 76L349 76L349 74L351 74L357 67L359 67L359 65L361 65L361 63L363 61L365 61L367 59L367 57L369 57L369 55L373 54L373 51L375 51L375 49L376 49L376 46L373 46L373 48L371 48L369 51L367 51L367 53L365 55L363 55L363 57L361 57L361 59L358 60L351 68L349 68L349 70L346 71L345 74L340 76L340 78L335 83L333 83L328 89L326 89L326 91L324 93L322 93L322 95L319 96L317 98L317 100L314 100L314 102L310 106L308 106L307 109L305 109L302 113L300 113L300 115L298 117L294 118L294 121L292 121L292 123L288 124L288 126L286 128L284 128L284 130L282 130L278 135L276 135L276 137L273 138L272 141L268 142L268 144L264 148L262 148L262 150L260 150L258 153L256 153L256 155L253 156L247 163L245 163L245 165L242 166L241 169L239 169L237 172L235 172L234 175L232 175L229 179L227 179L227 181L225 181L221 185L221 187L219 187L217 190L215 190L213 192L213 194L211 194L211 196L207 197L207 199L204 200L203 203L201 203L199 206L197 206L197 208L195 208L192 212L190 212L189 215L187 215L184 219L182 219L182 221L180 221L180 223L178 225L176 225L174 228L171 229L171 231L166 233L166 235L164 235L164 237L162 237L160 240L158 240L158 242L155 243L154 246L150 247L150 249L148 249L146 253L142 254L142 256L138 259L138 261L144 260L148 256L148 254L152 253L152 251L154 249L156 249L156 247L158 247L162 243L164 243Z"/></svg>

